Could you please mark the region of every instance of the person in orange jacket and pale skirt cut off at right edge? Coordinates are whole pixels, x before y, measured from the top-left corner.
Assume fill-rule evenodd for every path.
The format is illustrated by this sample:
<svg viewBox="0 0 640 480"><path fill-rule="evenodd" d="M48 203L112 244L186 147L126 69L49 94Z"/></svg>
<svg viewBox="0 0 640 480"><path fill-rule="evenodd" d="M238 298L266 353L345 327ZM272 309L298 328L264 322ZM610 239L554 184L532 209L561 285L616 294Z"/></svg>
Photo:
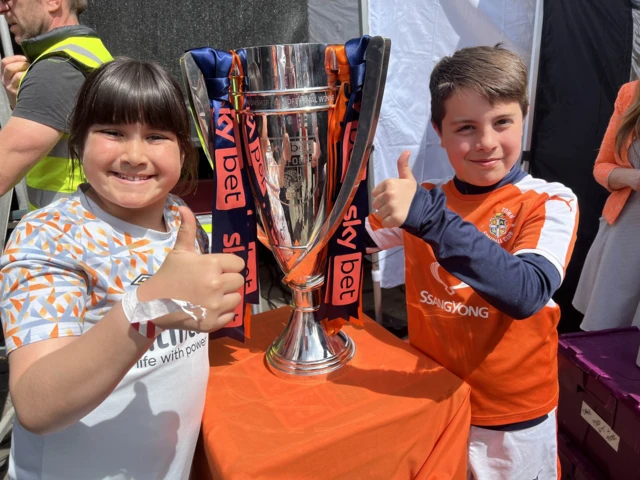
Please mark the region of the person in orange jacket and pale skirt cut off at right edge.
<svg viewBox="0 0 640 480"><path fill-rule="evenodd" d="M639 85L620 89L593 171L611 194L573 299L583 330L640 326Z"/></svg>

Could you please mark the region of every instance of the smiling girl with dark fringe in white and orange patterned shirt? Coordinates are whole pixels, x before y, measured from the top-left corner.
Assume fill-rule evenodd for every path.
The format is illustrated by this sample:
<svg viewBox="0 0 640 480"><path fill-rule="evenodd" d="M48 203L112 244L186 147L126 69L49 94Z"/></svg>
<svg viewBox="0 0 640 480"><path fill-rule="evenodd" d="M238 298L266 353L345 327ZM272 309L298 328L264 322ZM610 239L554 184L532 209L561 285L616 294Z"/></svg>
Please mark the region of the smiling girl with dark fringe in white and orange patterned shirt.
<svg viewBox="0 0 640 480"><path fill-rule="evenodd" d="M157 65L91 74L69 147L88 184L27 215L0 261L10 477L186 479L206 332L233 318L243 262L202 255L206 235L169 193L195 157L180 89Z"/></svg>

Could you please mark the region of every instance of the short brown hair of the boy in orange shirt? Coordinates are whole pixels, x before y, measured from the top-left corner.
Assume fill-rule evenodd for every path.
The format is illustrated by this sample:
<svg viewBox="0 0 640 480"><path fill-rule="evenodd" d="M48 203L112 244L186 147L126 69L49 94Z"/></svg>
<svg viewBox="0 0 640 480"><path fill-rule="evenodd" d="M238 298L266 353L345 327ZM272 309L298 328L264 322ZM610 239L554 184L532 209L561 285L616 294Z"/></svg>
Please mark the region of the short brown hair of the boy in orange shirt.
<svg viewBox="0 0 640 480"><path fill-rule="evenodd" d="M442 58L431 72L431 121L442 129L444 103L455 92L471 89L494 105L518 102L522 115L529 109L527 67L522 59L498 43L468 47Z"/></svg>

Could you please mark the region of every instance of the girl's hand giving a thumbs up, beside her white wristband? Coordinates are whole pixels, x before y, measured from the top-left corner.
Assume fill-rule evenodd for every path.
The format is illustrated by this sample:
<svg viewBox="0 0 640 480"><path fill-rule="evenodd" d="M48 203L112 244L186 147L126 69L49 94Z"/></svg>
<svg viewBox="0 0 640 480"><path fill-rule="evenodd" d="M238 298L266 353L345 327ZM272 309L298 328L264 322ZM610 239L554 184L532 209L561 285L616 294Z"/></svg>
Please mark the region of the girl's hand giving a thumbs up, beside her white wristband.
<svg viewBox="0 0 640 480"><path fill-rule="evenodd" d="M196 253L196 219L187 207L180 207L182 223L173 250L162 267L138 287L138 300L161 298L185 300L207 310L201 321L184 314L170 314L154 320L161 328L211 332L233 320L244 285L244 261L231 254Z"/></svg>

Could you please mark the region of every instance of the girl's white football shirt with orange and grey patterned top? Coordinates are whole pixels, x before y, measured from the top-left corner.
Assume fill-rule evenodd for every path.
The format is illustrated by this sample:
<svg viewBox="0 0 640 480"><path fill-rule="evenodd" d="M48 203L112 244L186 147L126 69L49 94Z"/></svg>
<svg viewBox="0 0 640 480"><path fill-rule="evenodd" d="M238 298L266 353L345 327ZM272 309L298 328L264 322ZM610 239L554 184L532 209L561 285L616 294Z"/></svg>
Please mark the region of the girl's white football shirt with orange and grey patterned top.
<svg viewBox="0 0 640 480"><path fill-rule="evenodd" d="M112 217L83 188L26 215L0 258L9 352L84 335L158 271L176 242L179 198L169 195L167 231L158 232ZM201 229L194 246L208 251ZM204 333L163 331L98 407L63 430L36 435L16 419L10 478L189 478L209 377L207 342Z"/></svg>

